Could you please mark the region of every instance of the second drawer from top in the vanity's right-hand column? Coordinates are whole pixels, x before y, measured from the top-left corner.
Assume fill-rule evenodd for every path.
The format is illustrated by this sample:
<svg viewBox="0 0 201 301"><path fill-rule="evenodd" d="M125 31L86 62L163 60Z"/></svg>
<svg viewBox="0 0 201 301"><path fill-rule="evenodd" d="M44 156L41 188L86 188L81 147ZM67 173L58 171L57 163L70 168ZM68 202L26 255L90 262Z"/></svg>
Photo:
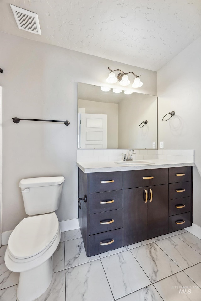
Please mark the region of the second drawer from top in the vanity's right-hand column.
<svg viewBox="0 0 201 301"><path fill-rule="evenodd" d="M191 182L169 184L169 200L191 196Z"/></svg>

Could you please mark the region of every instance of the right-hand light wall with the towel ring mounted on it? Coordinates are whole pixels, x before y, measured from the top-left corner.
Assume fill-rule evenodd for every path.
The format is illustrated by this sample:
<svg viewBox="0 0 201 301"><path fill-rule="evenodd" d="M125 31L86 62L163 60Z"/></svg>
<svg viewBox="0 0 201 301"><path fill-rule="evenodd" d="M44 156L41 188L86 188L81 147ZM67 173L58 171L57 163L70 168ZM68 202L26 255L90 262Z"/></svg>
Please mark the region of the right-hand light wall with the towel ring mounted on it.
<svg viewBox="0 0 201 301"><path fill-rule="evenodd" d="M201 226L201 37L158 71L158 141L165 149L194 149L193 223ZM163 122L168 112L176 115Z"/></svg>

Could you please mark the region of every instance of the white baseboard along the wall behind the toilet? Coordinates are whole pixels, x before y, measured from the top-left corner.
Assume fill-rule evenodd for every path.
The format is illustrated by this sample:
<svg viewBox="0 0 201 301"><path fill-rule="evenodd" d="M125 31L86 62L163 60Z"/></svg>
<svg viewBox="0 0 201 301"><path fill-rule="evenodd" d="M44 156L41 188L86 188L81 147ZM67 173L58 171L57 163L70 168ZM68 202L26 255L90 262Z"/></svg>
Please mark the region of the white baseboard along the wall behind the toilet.
<svg viewBox="0 0 201 301"><path fill-rule="evenodd" d="M59 226L61 229L61 232L69 231L69 230L74 230L74 229L79 229L79 222L78 219L68 219L68 220L62 220L59 222ZM6 231L2 232L2 246L3 245L8 245L8 240L11 235L12 231Z"/></svg>

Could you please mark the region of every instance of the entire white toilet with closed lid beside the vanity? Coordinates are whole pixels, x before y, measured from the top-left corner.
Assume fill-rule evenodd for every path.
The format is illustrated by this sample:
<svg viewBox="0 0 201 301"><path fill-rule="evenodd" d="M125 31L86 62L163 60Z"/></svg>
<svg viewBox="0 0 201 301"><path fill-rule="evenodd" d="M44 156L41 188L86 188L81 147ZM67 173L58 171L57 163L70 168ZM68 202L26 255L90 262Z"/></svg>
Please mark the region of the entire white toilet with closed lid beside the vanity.
<svg viewBox="0 0 201 301"><path fill-rule="evenodd" d="M51 283L52 255L61 238L54 211L59 207L63 182L64 177L41 177L19 183L29 217L15 227L5 253L8 269L20 273L19 301L35 300Z"/></svg>

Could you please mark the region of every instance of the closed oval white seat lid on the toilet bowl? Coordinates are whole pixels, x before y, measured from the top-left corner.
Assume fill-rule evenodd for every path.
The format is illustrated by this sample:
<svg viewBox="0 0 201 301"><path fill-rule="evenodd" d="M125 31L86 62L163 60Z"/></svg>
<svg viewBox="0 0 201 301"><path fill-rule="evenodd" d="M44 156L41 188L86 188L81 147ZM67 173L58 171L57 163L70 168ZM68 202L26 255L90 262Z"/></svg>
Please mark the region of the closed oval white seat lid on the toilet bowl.
<svg viewBox="0 0 201 301"><path fill-rule="evenodd" d="M23 219L13 230L8 241L9 255L20 262L33 260L50 247L59 230L55 212ZM18 262L19 262L18 261Z"/></svg>

